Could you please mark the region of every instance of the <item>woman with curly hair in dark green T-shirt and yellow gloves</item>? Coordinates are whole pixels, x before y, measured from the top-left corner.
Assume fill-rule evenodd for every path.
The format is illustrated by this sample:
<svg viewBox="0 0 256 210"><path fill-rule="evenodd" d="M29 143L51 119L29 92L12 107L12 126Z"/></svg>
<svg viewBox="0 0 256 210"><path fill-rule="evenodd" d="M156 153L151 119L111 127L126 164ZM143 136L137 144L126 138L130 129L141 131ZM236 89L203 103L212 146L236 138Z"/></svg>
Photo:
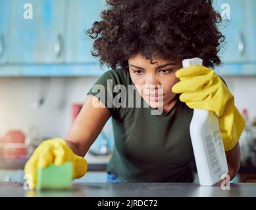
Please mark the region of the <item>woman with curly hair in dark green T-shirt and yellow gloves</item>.
<svg viewBox="0 0 256 210"><path fill-rule="evenodd" d="M193 182L189 130L193 108L218 116L228 175L233 179L240 167L238 140L245 121L234 106L234 96L211 70L220 64L218 51L224 41L217 28L221 16L212 2L107 3L102 20L88 33L95 39L93 56L113 70L101 75L87 93L65 140L46 140L36 149L25 167L25 173L32 175L30 186L36 184L37 167L51 163L72 161L74 178L82 177L87 170L82 157L111 116L115 147L107 166L109 181ZM202 58L203 66L182 68L182 60L193 57ZM135 87L135 100L130 87Z"/></svg>

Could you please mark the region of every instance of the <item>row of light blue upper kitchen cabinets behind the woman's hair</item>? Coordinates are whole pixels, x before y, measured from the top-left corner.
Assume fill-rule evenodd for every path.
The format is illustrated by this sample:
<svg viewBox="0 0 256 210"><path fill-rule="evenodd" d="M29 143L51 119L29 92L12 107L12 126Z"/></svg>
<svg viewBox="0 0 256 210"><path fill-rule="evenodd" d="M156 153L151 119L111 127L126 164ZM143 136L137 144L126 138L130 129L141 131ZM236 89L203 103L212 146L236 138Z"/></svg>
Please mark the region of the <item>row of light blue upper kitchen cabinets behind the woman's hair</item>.
<svg viewBox="0 0 256 210"><path fill-rule="evenodd" d="M23 17L30 3L33 19ZM220 75L256 75L256 0L216 0L226 36ZM105 0L0 0L0 76L99 76L93 40L85 31ZM230 11L228 11L230 9ZM227 16L230 14L230 20Z"/></svg>

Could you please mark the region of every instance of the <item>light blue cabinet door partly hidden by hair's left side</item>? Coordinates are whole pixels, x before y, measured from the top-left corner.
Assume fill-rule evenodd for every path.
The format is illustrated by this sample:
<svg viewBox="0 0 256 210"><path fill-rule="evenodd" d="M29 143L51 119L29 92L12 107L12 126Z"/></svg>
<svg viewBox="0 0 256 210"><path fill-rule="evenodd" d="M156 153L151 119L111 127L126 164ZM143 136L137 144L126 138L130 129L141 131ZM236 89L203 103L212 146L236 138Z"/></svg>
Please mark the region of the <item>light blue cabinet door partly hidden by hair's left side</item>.
<svg viewBox="0 0 256 210"><path fill-rule="evenodd" d="M86 35L93 22L100 20L105 1L70 0L66 62L97 62L91 56L93 41Z"/></svg>

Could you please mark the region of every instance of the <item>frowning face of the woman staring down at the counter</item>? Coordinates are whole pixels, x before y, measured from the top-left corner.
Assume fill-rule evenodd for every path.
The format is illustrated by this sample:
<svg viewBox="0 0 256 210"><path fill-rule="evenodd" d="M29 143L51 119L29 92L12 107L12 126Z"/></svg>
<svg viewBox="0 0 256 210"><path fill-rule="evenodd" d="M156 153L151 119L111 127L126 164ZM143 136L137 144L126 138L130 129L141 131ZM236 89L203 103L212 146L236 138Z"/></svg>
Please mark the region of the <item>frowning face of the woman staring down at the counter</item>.
<svg viewBox="0 0 256 210"><path fill-rule="evenodd" d="M153 64L141 54L136 54L128 59L130 77L136 85L143 99L153 108L166 106L172 102L175 93L172 86L179 80L175 72L182 68L182 62L178 60L163 60L153 57ZM161 105L161 104L162 105Z"/></svg>

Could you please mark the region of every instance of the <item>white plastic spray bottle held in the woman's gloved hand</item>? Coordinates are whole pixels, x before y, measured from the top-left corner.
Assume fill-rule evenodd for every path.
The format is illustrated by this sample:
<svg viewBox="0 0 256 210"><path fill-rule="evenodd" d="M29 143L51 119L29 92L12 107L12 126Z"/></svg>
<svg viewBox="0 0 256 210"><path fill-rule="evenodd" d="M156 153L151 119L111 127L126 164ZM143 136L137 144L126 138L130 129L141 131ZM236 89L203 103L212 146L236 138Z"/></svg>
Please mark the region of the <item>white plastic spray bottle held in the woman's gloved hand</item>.
<svg viewBox="0 0 256 210"><path fill-rule="evenodd" d="M203 65L201 58L182 61L184 68L190 65ZM208 110L194 109L190 123L190 137L199 184L212 186L228 173L228 164L218 124L218 117Z"/></svg>

